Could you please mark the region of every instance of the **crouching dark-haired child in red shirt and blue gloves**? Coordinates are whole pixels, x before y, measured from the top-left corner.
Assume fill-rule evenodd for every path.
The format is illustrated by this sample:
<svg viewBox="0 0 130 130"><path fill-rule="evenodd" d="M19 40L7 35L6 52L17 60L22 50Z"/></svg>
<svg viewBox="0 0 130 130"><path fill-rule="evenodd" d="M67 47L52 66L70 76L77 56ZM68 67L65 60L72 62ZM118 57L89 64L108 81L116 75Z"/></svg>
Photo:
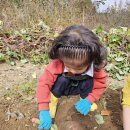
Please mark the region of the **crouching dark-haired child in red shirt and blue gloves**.
<svg viewBox="0 0 130 130"><path fill-rule="evenodd" d="M83 115L90 111L106 88L107 51L99 38L84 26L67 27L54 40L49 56L52 62L45 68L38 84L39 129L52 125L49 103L51 95L80 95L75 108ZM51 94L52 93L52 94Z"/></svg>

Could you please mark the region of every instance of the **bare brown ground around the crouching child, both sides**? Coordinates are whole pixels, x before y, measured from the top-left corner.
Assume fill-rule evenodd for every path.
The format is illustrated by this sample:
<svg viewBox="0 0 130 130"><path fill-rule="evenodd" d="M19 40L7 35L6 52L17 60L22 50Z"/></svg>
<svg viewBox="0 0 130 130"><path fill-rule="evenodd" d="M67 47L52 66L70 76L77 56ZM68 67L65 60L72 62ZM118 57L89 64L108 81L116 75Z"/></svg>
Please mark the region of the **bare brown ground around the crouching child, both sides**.
<svg viewBox="0 0 130 130"><path fill-rule="evenodd" d="M16 66L0 64L0 130L37 130L31 119L38 117L36 102L36 83L44 66L16 63ZM109 78L108 85L123 86L123 81ZM31 88L32 87L32 88ZM120 89L106 89L98 109L82 116L74 109L79 97L63 97L60 99L55 124L58 130L122 130L122 109L120 105ZM95 115L102 110L112 111L103 116L104 123L98 124Z"/></svg>

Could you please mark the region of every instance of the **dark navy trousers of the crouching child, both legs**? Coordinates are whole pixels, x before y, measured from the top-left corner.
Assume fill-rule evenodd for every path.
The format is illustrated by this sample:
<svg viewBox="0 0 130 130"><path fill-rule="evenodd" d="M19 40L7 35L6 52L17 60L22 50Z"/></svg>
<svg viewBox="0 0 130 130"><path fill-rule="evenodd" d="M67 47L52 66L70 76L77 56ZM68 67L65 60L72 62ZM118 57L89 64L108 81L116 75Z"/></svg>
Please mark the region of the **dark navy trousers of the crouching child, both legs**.
<svg viewBox="0 0 130 130"><path fill-rule="evenodd" d="M57 98L61 96L80 95L81 98L86 98L93 88L93 77L88 75L66 77L59 75L56 82L52 86L51 92Z"/></svg>

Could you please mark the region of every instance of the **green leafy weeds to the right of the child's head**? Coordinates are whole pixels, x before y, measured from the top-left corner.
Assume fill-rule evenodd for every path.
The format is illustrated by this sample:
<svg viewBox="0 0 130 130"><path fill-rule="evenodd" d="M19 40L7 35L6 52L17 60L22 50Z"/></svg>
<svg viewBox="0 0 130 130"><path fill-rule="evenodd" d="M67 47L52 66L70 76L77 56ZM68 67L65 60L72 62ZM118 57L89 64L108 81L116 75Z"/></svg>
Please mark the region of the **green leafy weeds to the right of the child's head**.
<svg viewBox="0 0 130 130"><path fill-rule="evenodd" d="M130 73L129 62L129 29L126 27L111 28L105 32L102 27L94 30L108 49L108 65L106 71L109 76L122 80Z"/></svg>

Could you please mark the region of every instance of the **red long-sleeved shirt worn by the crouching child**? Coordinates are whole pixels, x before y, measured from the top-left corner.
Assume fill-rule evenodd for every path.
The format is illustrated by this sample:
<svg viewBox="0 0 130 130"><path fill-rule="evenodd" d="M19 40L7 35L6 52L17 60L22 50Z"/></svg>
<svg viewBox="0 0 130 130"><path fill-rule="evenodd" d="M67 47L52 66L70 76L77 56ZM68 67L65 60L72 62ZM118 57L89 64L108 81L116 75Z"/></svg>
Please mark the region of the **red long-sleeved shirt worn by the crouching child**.
<svg viewBox="0 0 130 130"><path fill-rule="evenodd" d="M50 92L51 88L56 81L59 74L64 72L64 64L60 60L53 60L44 70L44 73L39 79L37 89L37 100L39 104L39 110L48 110L50 103ZM107 74L104 69L94 71L93 76L93 90L88 94L86 99L90 100L91 103L99 100L102 93L106 88Z"/></svg>

